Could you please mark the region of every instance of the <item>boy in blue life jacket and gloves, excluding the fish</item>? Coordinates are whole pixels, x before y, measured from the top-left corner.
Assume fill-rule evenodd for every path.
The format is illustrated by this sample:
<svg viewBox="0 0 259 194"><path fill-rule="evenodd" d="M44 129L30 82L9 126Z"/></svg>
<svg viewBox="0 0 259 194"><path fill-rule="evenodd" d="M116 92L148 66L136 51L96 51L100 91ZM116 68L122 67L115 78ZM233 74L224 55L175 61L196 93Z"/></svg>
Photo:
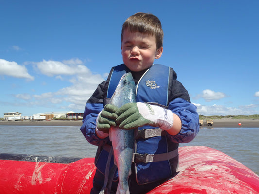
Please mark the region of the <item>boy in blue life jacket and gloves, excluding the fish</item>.
<svg viewBox="0 0 259 194"><path fill-rule="evenodd" d="M172 178L178 166L179 143L190 142L199 131L196 107L176 80L176 73L170 67L153 65L163 52L159 19L146 13L130 16L122 26L121 51L124 64L111 69L107 80L98 85L86 103L81 131L88 142L99 146L91 194L99 193L104 185L111 126L138 129L129 177L132 194L146 193ZM122 107L107 104L125 72L132 73L137 85L137 103ZM115 173L111 193L116 192L117 179Z"/></svg>

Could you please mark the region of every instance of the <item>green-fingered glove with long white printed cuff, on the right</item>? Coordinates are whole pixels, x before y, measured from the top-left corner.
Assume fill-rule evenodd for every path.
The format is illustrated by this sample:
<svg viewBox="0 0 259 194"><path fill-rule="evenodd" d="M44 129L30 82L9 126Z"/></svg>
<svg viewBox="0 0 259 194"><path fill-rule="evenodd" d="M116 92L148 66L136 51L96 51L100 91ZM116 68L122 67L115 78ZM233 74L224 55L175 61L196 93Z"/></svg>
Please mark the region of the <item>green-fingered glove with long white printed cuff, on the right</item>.
<svg viewBox="0 0 259 194"><path fill-rule="evenodd" d="M116 124L120 129L136 129L150 125L168 130L173 126L172 111L143 102L127 103L115 113L118 115Z"/></svg>

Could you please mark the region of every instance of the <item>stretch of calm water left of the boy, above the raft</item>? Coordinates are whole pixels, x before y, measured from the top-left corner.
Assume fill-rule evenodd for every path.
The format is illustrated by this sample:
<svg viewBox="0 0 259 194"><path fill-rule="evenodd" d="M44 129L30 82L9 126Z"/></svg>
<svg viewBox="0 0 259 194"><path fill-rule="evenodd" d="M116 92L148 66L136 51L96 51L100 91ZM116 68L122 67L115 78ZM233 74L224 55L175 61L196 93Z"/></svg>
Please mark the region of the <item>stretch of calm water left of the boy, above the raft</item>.
<svg viewBox="0 0 259 194"><path fill-rule="evenodd" d="M96 149L78 126L0 126L0 153L84 158Z"/></svg>

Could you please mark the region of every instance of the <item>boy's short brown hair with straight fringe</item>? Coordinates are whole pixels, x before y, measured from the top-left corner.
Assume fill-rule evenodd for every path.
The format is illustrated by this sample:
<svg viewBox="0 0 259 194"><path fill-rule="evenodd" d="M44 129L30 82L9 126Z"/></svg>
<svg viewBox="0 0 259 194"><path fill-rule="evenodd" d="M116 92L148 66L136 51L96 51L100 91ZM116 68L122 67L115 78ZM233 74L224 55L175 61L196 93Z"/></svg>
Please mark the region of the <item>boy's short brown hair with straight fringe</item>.
<svg viewBox="0 0 259 194"><path fill-rule="evenodd" d="M156 49L163 46L164 32L160 20L153 14L138 12L130 16L122 25L121 42L123 40L123 32L125 30L130 32L140 32L155 36Z"/></svg>

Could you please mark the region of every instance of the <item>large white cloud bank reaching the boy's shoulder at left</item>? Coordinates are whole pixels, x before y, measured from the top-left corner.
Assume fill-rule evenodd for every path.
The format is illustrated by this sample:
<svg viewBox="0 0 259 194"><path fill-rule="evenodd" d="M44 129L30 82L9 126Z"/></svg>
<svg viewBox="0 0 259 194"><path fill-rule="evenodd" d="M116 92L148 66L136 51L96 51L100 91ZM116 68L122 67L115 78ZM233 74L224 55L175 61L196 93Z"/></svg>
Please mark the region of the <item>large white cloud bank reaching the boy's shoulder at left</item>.
<svg viewBox="0 0 259 194"><path fill-rule="evenodd" d="M71 84L54 92L31 95L31 100L28 100L27 106L52 107L53 110L84 111L86 101L91 97L97 85L104 81L102 75L93 74L82 64L81 60L76 58L62 62L43 60L42 62L30 63L35 64L44 75L55 76L56 79L66 80ZM17 95L17 98L22 99L22 96ZM25 104L23 103L23 105Z"/></svg>

